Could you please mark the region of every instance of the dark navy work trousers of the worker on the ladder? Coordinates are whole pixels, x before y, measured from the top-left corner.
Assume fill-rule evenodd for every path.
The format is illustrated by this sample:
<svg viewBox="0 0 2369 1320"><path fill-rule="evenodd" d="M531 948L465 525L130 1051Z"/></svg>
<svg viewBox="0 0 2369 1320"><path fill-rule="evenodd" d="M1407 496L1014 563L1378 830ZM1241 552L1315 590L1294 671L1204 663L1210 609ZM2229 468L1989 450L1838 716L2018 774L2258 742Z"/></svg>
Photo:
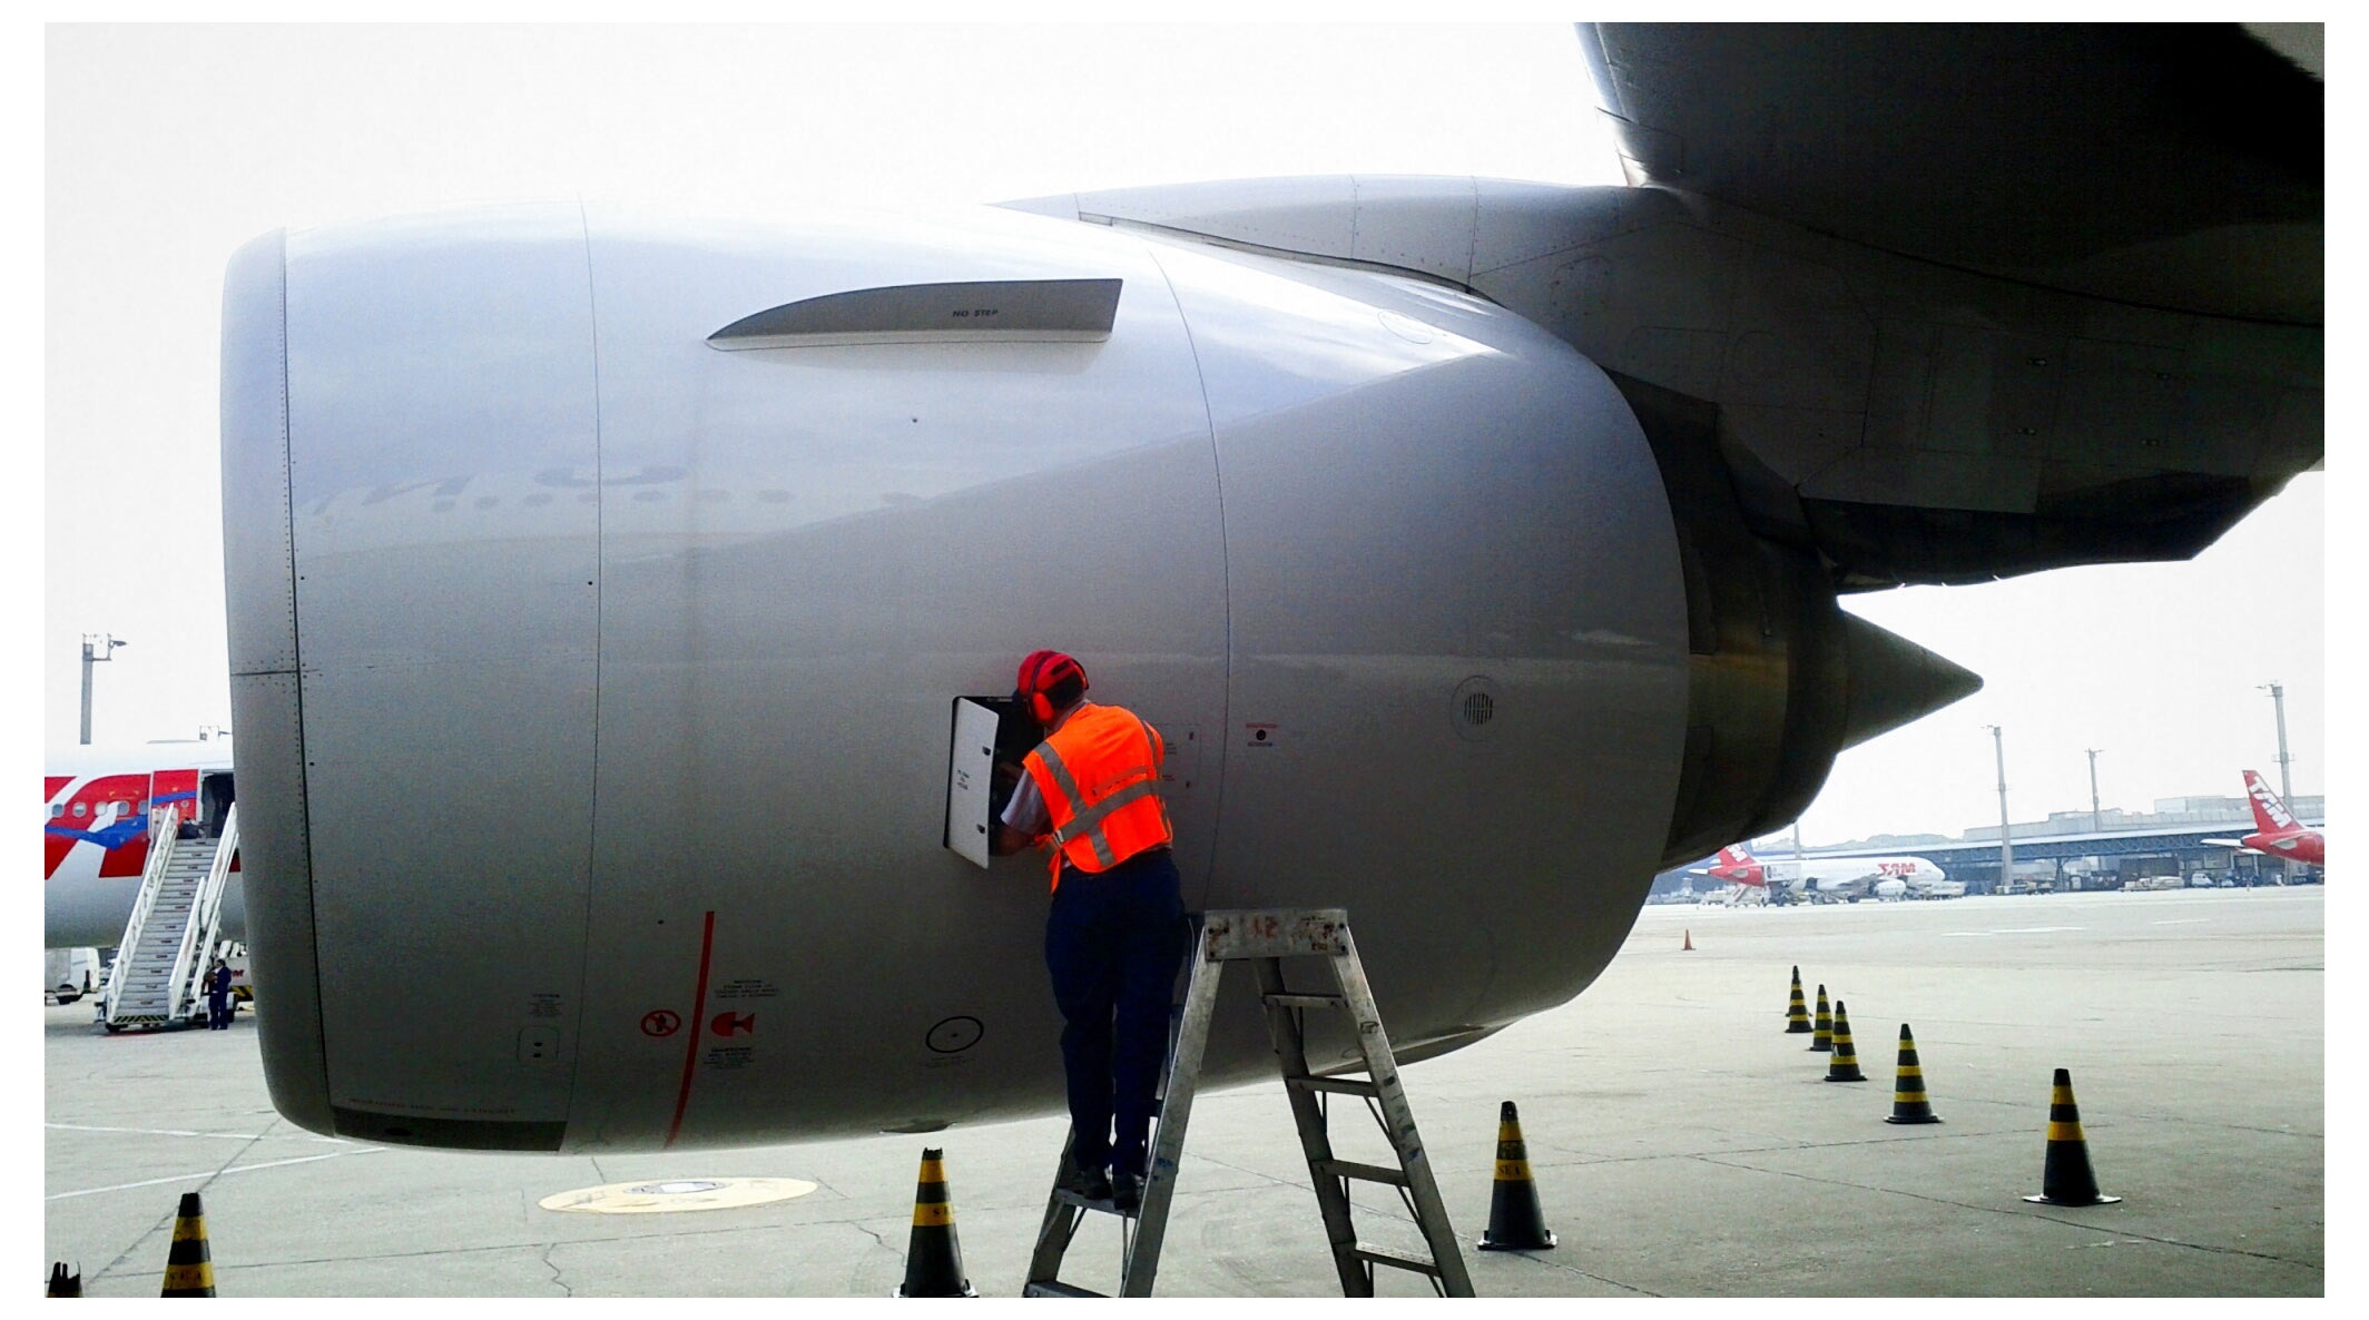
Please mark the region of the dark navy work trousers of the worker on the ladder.
<svg viewBox="0 0 2369 1320"><path fill-rule="evenodd" d="M1144 1173L1184 936L1182 882L1168 848L1099 874L1061 867L1045 919L1045 967L1066 1024L1061 1064L1080 1168Z"/></svg>

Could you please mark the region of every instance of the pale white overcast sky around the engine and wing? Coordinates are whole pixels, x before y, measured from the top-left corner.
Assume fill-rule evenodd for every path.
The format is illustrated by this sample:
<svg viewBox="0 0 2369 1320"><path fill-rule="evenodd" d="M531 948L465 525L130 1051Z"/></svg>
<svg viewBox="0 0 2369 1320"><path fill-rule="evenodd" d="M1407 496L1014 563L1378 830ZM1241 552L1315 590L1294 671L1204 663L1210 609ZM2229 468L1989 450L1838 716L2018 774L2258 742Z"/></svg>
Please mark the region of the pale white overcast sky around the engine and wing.
<svg viewBox="0 0 2369 1320"><path fill-rule="evenodd" d="M76 742L230 723L216 372L230 254L275 228L590 199L763 218L1251 175L1620 182L1568 24L52 26L43 83L43 709ZM2331 431L2336 424L2331 422ZM2191 564L1850 597L1985 690L1843 754L1808 844L2277 782L2326 787L2326 476Z"/></svg>

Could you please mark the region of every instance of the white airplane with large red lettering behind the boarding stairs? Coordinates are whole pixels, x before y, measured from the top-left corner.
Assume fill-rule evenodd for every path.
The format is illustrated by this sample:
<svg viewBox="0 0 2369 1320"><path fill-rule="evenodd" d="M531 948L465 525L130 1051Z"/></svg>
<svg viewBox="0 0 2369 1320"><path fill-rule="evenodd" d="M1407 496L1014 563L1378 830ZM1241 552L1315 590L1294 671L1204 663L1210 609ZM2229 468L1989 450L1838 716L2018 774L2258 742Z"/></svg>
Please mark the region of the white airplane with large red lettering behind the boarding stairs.
<svg viewBox="0 0 2369 1320"><path fill-rule="evenodd" d="M232 801L230 737L54 754L43 775L45 948L114 948L140 896L149 837L168 808L220 829ZM244 938L237 863L223 891L223 938Z"/></svg>

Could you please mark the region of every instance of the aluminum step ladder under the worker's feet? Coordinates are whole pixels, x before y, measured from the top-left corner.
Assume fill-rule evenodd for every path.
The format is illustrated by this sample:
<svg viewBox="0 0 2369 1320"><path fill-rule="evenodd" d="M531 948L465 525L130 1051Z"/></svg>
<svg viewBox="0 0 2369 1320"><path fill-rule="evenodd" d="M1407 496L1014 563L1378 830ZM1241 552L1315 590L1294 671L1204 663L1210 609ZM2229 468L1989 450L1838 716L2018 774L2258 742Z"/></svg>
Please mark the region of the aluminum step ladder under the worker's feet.
<svg viewBox="0 0 2369 1320"><path fill-rule="evenodd" d="M1331 979L1331 991L1308 993L1289 988L1284 983L1286 957L1315 960ZM1341 1273L1341 1294L1374 1296L1374 1270L1398 1268L1424 1275L1440 1296L1474 1296L1471 1275L1464 1270L1464 1254L1457 1247L1455 1228L1447 1223L1447 1206L1440 1202L1438 1183L1431 1178L1431 1161L1424 1156L1421 1135L1414 1130L1414 1111L1407 1107L1407 1092L1398 1083L1398 1059L1391 1055L1391 1038L1381 1029L1381 1014L1374 1010L1374 991L1365 981L1365 967L1357 962L1357 943L1348 934L1348 912L1341 908L1208 912L1201 917L1192 950L1192 976L1175 1021L1175 1043L1161 1088L1144 1199L1132 1216L1121 1216L1118 1296L1151 1296L1151 1280L1161 1261L1161 1239L1168 1232L1168 1202L1175 1194L1177 1159L1184 1154L1184 1123L1192 1116L1194 1090L1201 1083L1201 1052L1208 1045L1211 1012L1218 1005L1218 981L1227 962L1248 962L1258 974L1258 1000L1267 1014L1267 1038L1275 1043L1275 1062L1291 1097L1291 1119L1301 1130L1301 1149L1308 1154L1308 1173L1315 1183L1317 1209L1324 1216L1324 1235L1331 1239L1334 1268ZM1362 1078L1315 1076L1308 1069L1308 1010L1348 1014L1365 1064ZM1355 1095L1365 1102L1365 1109L1381 1123L1381 1133L1398 1156L1395 1168L1334 1156L1329 1095ZM1061 1168L1066 1166L1068 1145L1061 1147ZM1360 1242L1350 1223L1348 1185L1353 1180L1395 1187L1407 1213L1414 1218L1414 1228L1424 1237L1429 1256L1386 1251ZM1052 1199L1045 1204L1045 1225L1038 1230L1035 1256L1028 1261L1028 1284L1021 1296L1104 1296L1064 1284L1059 1277L1061 1256L1068 1251L1078 1225L1090 1211L1118 1213L1111 1202L1087 1202L1054 1185Z"/></svg>

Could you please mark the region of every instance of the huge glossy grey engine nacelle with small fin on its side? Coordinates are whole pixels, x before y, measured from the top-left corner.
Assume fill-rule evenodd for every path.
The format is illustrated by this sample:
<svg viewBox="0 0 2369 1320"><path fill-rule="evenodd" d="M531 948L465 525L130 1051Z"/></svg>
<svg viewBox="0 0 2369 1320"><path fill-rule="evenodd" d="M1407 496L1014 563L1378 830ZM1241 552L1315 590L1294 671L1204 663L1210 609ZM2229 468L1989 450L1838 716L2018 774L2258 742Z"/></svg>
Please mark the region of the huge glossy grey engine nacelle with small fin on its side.
<svg viewBox="0 0 2369 1320"><path fill-rule="evenodd" d="M1057 1111L1042 860L943 846L950 701L1035 647L1166 732L1187 905L1348 908L1402 1057L1585 988L1670 841L1703 678L1656 453L1471 294L986 209L521 206L263 237L223 344L308 1128ZM1270 1066L1220 1010L1211 1081Z"/></svg>

